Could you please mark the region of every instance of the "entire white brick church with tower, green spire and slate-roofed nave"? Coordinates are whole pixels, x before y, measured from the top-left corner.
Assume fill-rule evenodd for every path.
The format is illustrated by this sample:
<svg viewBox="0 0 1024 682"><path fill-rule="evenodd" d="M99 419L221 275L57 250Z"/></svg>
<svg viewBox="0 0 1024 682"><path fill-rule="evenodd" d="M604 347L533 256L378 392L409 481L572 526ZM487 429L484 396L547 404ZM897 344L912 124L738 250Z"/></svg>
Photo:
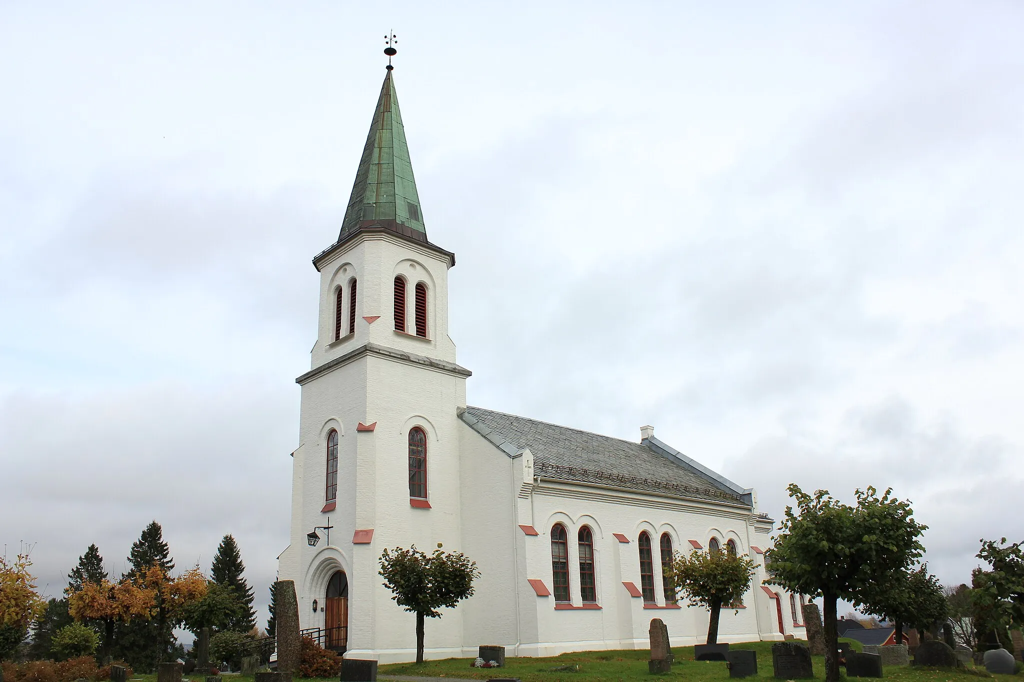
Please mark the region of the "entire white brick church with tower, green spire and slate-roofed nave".
<svg viewBox="0 0 1024 682"><path fill-rule="evenodd" d="M319 324L293 453L291 545L303 628L346 655L414 660L415 617L378 575L384 548L475 560L476 594L429 620L427 657L703 641L708 612L666 598L673 550L749 553L758 573L721 641L804 637L797 597L763 585L773 521L757 496L643 426L639 442L466 404L447 335L455 255L427 240L389 69L338 240L313 259ZM330 530L323 527L331 526ZM307 536L316 533L311 546ZM315 537L315 536L314 536Z"/></svg>

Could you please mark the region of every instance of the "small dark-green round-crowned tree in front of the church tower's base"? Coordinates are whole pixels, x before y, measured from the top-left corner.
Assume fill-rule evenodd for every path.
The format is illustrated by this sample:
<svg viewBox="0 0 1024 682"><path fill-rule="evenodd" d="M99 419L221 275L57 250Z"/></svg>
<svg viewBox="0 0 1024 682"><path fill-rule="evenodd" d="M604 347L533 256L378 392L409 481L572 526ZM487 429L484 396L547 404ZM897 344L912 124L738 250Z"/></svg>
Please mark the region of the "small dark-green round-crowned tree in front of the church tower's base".
<svg viewBox="0 0 1024 682"><path fill-rule="evenodd" d="M473 594L473 581L480 576L476 562L462 552L444 552L441 543L431 554L410 549L385 549L380 576L392 599L416 613L416 663L423 663L423 620L440 618L441 606L454 608Z"/></svg>

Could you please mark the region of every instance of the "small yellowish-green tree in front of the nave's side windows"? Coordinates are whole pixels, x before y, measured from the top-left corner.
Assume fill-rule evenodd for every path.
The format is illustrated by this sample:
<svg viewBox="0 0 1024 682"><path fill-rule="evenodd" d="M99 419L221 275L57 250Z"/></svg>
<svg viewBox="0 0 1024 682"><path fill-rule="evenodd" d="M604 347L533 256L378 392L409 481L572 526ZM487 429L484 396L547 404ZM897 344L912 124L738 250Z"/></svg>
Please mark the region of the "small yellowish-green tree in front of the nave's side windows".
<svg viewBox="0 0 1024 682"><path fill-rule="evenodd" d="M676 594L689 599L690 606L711 610L708 643L717 644L722 606L729 607L742 599L756 567L745 554L695 549L689 556L676 552L666 567L666 576Z"/></svg>

